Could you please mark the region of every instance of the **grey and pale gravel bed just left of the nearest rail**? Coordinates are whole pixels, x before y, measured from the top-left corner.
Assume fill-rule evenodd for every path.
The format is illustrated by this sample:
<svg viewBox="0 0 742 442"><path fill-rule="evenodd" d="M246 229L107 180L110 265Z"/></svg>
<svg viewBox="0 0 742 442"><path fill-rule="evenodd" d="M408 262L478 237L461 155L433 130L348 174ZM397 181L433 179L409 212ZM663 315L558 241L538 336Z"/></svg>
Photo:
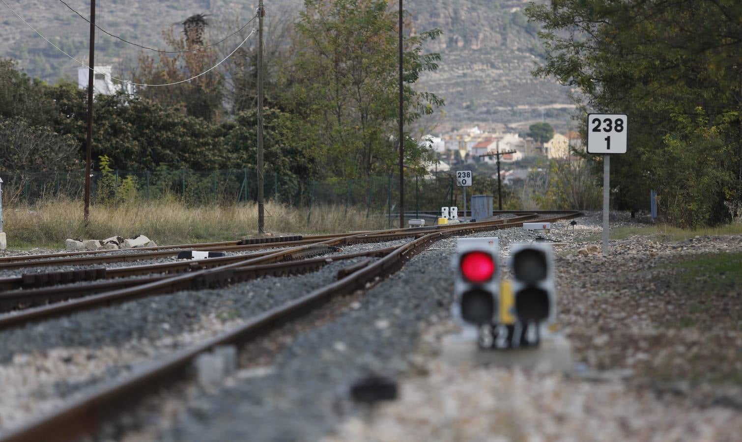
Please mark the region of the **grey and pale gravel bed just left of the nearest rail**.
<svg viewBox="0 0 742 442"><path fill-rule="evenodd" d="M347 249L381 248L387 243ZM49 409L85 386L204 340L335 280L340 260L294 277L182 291L0 331L0 429Z"/></svg>

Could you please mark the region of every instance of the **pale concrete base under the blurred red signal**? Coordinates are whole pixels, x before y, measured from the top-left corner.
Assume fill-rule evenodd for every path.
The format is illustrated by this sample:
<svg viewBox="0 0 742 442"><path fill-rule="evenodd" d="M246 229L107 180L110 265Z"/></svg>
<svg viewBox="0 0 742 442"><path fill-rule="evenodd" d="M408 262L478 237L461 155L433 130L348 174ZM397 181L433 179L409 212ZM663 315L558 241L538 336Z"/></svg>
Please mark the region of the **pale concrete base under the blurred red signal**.
<svg viewBox="0 0 742 442"><path fill-rule="evenodd" d="M546 334L539 346L531 349L482 350L476 331L466 330L442 338L441 360L455 366L519 366L536 372L568 373L574 369L572 346L563 334Z"/></svg>

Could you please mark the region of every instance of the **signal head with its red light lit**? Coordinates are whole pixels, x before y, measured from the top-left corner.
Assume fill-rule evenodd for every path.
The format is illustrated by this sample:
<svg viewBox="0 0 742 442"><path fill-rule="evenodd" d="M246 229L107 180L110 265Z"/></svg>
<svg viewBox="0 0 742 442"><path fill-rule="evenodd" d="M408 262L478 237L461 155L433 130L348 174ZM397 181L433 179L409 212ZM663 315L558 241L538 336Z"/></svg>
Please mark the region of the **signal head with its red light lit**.
<svg viewBox="0 0 742 442"><path fill-rule="evenodd" d="M453 315L473 326L492 323L499 310L499 241L459 238L456 250Z"/></svg>

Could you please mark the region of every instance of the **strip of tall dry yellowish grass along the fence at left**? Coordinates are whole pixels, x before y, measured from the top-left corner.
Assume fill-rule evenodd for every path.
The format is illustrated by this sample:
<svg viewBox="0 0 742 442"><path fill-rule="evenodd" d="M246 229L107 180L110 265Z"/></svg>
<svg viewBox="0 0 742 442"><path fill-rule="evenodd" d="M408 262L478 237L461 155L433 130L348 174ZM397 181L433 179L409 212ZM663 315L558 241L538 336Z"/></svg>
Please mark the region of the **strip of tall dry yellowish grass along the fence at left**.
<svg viewBox="0 0 742 442"><path fill-rule="evenodd" d="M309 234L386 228L380 214L343 206L306 208L266 203L266 231ZM61 248L66 238L103 239L114 235L145 234L158 244L238 240L257 234L257 205L188 207L178 201L130 202L91 206L90 225L82 222L82 202L47 201L6 208L5 225L10 248Z"/></svg>

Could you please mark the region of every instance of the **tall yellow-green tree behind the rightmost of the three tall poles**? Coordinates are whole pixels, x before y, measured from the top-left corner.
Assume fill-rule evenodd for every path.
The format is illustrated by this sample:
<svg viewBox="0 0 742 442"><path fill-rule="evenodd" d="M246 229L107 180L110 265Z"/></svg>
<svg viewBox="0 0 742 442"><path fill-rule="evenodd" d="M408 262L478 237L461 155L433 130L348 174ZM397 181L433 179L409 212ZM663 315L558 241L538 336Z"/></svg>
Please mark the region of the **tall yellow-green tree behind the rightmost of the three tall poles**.
<svg viewBox="0 0 742 442"><path fill-rule="evenodd" d="M305 0L295 25L292 57L283 69L289 109L306 122L327 174L369 177L395 170L399 140L397 14L384 0ZM420 74L436 70L439 54L422 46L432 30L404 41L405 122L434 112L443 101L413 89ZM405 142L405 162L426 155Z"/></svg>

